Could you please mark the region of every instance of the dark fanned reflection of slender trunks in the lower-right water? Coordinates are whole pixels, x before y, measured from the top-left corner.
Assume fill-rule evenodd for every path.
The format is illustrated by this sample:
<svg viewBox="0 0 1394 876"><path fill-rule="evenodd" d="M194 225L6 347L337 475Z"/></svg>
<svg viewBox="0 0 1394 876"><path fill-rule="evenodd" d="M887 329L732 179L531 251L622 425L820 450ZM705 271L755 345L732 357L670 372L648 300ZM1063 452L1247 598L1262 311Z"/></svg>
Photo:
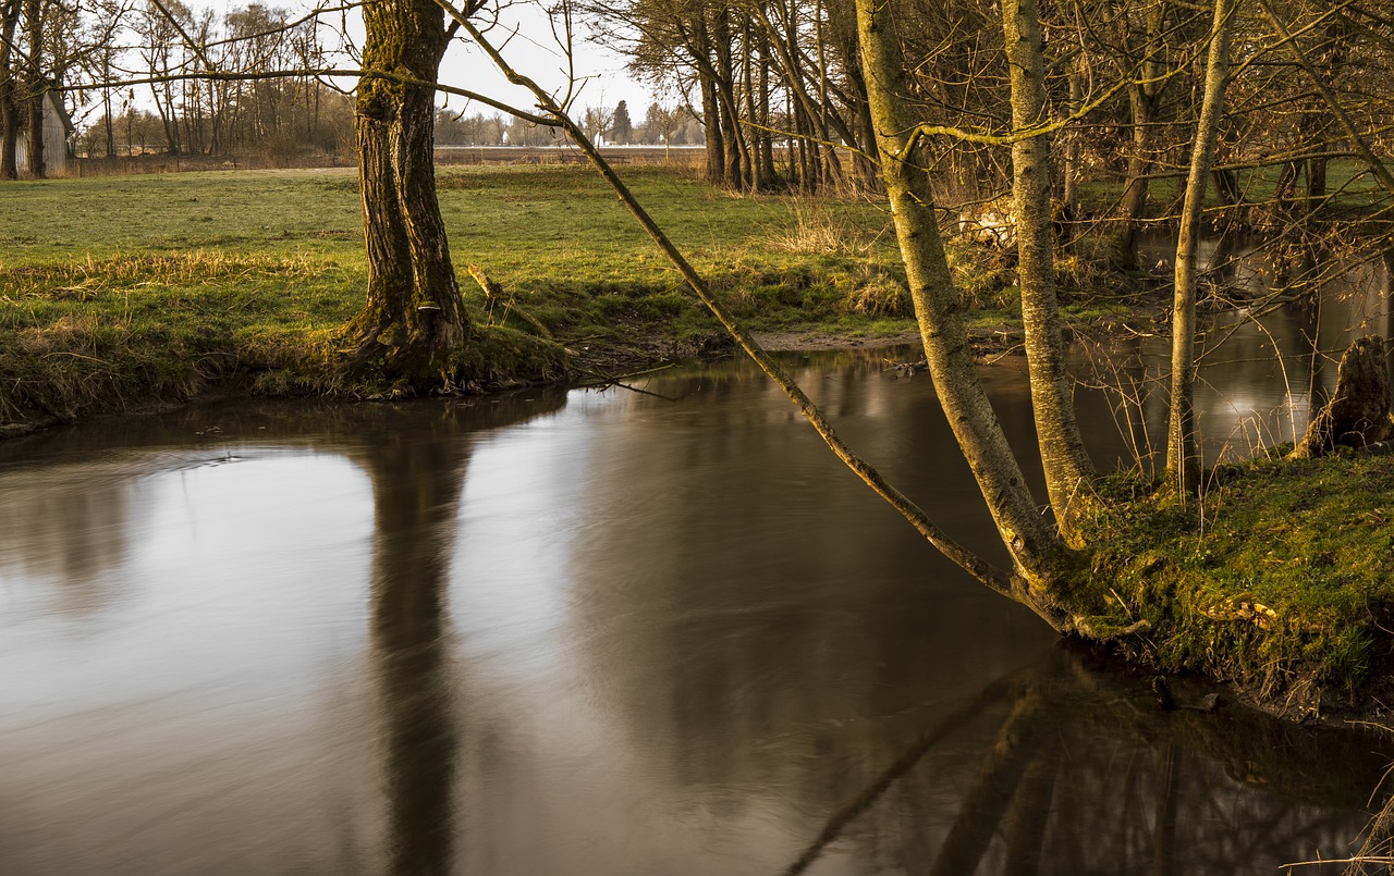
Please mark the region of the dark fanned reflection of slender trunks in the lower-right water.
<svg viewBox="0 0 1394 876"><path fill-rule="evenodd" d="M1058 649L945 712L785 873L835 844L935 876L1271 872L1271 840L1338 861L1383 804L1359 788L1387 767L1387 744L1234 705L1161 712L1140 680L1086 663ZM973 734L963 759L953 737Z"/></svg>

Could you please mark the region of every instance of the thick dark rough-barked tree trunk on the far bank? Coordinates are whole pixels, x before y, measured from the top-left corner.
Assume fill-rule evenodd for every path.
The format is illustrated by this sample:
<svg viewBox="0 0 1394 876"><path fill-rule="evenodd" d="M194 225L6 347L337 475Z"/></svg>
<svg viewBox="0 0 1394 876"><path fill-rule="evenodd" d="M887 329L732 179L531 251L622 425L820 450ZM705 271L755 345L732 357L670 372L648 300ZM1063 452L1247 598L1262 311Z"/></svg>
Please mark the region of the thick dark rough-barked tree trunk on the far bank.
<svg viewBox="0 0 1394 876"><path fill-rule="evenodd" d="M354 132L368 302L350 330L365 357L383 355L385 373L420 387L452 377L470 334L435 191L428 84L445 54L445 14L434 0L369 0L362 18Z"/></svg>

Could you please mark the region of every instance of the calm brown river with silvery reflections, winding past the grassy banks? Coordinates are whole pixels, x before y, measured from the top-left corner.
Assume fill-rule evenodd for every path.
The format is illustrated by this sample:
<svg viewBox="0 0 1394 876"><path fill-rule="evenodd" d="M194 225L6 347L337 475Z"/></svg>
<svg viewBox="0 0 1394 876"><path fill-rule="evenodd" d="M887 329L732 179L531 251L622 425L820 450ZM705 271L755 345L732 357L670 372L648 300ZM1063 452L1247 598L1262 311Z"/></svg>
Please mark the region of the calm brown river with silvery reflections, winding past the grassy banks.
<svg viewBox="0 0 1394 876"><path fill-rule="evenodd" d="M1351 295L1327 324L1370 302L1387 323L1384 297ZM1274 315L1207 363L1211 458L1301 429L1334 380L1301 341L1345 337L1312 326ZM1105 352L1139 389L1082 390L1083 425L1100 464L1132 464L1164 344ZM928 379L887 370L907 355L786 361L1001 557ZM1026 448L1022 369L983 373ZM1149 678L938 558L743 361L638 387L206 404L0 444L0 872L1274 873L1349 854L1388 752L1157 710ZM1135 412L1153 428L1125 436Z"/></svg>

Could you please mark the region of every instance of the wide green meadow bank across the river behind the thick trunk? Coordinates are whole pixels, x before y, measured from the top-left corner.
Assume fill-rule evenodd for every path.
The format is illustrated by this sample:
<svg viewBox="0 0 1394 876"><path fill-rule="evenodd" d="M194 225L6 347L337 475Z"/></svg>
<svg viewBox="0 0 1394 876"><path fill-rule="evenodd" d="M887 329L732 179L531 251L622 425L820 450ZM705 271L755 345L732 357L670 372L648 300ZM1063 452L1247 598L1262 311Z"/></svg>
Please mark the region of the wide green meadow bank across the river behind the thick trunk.
<svg viewBox="0 0 1394 876"><path fill-rule="evenodd" d="M664 169L626 177L749 327L913 327L880 203L733 196ZM484 327L475 383L555 373L555 351L538 361L527 336L597 368L723 340L588 169L443 169L439 196ZM268 394L383 389L346 380L337 352L367 286L351 170L11 182L0 208L0 423L181 401L231 379ZM1016 324L999 262L956 253L984 333ZM505 295L487 301L468 263Z"/></svg>

